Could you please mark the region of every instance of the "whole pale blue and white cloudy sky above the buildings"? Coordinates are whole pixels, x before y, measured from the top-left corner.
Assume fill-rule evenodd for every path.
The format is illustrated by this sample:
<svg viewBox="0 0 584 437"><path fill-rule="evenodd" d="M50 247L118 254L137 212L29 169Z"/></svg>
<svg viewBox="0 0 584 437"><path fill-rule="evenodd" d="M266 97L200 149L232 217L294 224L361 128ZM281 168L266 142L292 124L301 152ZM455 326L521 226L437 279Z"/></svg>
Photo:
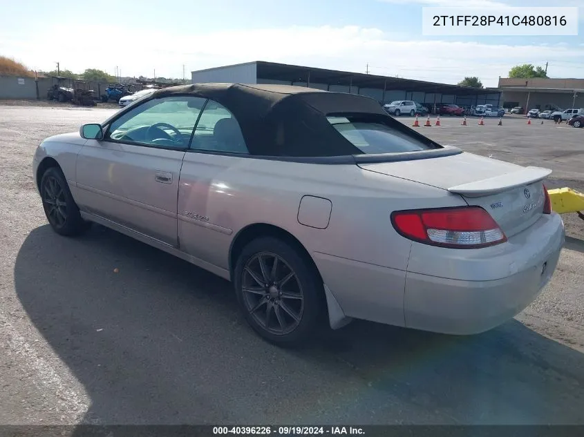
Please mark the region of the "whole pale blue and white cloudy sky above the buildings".
<svg viewBox="0 0 584 437"><path fill-rule="evenodd" d="M424 37L424 6L580 6L569 37ZM10 17L10 19L8 19ZM86 22L86 24L84 24ZM99 68L182 78L191 70L274 61L497 86L517 64L584 77L582 0L0 0L0 55L35 70Z"/></svg>

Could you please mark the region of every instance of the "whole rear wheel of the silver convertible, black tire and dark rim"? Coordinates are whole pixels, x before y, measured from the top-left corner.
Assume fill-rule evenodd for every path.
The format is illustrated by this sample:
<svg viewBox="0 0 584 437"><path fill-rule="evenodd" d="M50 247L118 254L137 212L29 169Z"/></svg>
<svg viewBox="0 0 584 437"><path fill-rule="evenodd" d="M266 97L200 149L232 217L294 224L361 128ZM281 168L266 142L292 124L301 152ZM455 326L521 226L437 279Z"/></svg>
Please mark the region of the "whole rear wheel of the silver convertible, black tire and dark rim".
<svg viewBox="0 0 584 437"><path fill-rule="evenodd" d="M235 292L245 319L256 333L274 344L300 344L317 329L324 307L323 284L305 256L283 240L260 237L243 248L236 262ZM290 274L292 277L286 279Z"/></svg>

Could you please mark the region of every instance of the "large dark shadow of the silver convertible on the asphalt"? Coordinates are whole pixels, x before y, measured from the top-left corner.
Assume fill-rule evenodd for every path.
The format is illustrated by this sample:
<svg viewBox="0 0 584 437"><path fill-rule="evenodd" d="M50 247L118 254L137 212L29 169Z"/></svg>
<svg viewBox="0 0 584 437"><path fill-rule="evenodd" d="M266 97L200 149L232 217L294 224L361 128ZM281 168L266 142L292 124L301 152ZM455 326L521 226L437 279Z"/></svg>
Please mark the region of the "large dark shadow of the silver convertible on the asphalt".
<svg viewBox="0 0 584 437"><path fill-rule="evenodd" d="M470 337L355 321L280 349L228 282L101 226L34 229L15 286L91 398L85 423L584 423L584 355L516 320Z"/></svg>

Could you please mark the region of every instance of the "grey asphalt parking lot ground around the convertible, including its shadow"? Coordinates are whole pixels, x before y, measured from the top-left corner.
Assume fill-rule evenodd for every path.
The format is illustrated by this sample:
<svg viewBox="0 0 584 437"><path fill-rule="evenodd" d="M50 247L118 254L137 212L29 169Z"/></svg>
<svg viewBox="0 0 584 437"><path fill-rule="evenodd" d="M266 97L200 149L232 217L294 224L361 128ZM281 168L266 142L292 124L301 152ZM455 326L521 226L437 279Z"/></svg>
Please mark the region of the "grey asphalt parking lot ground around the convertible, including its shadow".
<svg viewBox="0 0 584 437"><path fill-rule="evenodd" d="M576 215L564 217L552 282L497 329L453 337L355 321L279 349L211 273L100 226L78 239L49 229L37 144L113 111L0 106L0 424L584 424ZM584 129L461 121L419 129L584 191Z"/></svg>

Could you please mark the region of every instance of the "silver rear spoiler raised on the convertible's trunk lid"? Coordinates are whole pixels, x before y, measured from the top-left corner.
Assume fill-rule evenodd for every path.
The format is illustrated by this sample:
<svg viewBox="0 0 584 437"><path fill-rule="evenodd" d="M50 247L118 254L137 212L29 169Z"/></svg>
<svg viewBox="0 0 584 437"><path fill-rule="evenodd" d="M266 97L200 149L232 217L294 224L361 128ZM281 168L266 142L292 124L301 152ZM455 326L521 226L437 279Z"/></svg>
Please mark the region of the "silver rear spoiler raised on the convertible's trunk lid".
<svg viewBox="0 0 584 437"><path fill-rule="evenodd" d="M507 191L518 186L533 184L534 182L545 179L551 173L552 171L548 168L526 167L513 173L489 177L489 179L469 182L469 184L452 186L448 191L467 197L480 197L501 193L502 191Z"/></svg>

